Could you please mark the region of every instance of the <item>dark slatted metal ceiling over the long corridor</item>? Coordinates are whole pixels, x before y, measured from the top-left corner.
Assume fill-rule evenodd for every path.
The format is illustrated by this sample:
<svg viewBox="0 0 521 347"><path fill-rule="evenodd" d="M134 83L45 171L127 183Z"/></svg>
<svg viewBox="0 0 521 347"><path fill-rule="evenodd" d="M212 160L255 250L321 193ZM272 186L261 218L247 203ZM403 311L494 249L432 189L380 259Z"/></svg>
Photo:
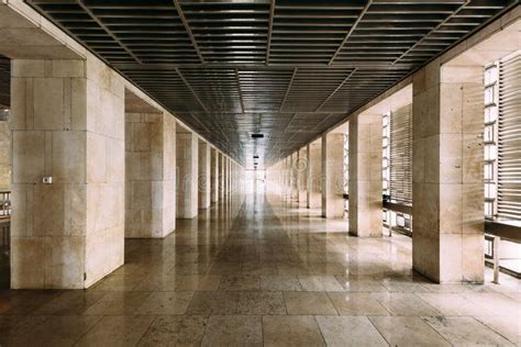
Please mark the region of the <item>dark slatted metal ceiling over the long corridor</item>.
<svg viewBox="0 0 521 347"><path fill-rule="evenodd" d="M254 154L269 163L304 145L518 1L27 2L251 167Z"/></svg>

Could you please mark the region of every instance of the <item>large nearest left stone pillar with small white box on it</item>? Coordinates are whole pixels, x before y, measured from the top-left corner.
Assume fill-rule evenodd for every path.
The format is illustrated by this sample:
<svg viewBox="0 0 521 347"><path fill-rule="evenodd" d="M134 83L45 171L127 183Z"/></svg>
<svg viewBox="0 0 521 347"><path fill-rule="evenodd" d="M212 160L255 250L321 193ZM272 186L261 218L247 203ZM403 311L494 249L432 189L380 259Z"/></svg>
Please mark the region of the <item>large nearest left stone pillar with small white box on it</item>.
<svg viewBox="0 0 521 347"><path fill-rule="evenodd" d="M123 264L123 80L93 57L11 74L11 287L88 288Z"/></svg>

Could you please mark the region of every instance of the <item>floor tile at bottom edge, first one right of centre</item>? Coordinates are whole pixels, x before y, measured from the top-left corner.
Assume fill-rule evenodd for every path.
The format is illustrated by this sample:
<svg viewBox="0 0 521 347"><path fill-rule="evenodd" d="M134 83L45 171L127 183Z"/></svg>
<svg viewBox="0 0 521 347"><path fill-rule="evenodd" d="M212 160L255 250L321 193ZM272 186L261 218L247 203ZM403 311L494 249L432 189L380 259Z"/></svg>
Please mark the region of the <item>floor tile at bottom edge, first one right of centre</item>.
<svg viewBox="0 0 521 347"><path fill-rule="evenodd" d="M263 316L264 346L324 346L313 316Z"/></svg>

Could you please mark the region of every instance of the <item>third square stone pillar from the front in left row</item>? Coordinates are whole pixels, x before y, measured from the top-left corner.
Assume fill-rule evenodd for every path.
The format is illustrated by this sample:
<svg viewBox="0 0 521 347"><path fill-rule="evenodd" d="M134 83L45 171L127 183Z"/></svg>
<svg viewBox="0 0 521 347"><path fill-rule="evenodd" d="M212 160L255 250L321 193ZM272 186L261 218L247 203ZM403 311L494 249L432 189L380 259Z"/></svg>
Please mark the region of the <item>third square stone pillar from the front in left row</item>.
<svg viewBox="0 0 521 347"><path fill-rule="evenodd" d="M198 147L192 132L177 126L177 217L190 220L198 213Z"/></svg>

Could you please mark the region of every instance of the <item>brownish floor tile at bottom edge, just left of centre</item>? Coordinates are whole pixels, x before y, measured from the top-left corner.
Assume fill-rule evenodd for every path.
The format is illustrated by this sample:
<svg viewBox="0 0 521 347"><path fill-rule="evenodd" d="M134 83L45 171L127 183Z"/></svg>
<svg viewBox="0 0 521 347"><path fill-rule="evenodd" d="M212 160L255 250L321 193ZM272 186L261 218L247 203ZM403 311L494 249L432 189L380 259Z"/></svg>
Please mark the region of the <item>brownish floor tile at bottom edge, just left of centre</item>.
<svg viewBox="0 0 521 347"><path fill-rule="evenodd" d="M202 346L263 346L262 320L258 315L212 315Z"/></svg>

